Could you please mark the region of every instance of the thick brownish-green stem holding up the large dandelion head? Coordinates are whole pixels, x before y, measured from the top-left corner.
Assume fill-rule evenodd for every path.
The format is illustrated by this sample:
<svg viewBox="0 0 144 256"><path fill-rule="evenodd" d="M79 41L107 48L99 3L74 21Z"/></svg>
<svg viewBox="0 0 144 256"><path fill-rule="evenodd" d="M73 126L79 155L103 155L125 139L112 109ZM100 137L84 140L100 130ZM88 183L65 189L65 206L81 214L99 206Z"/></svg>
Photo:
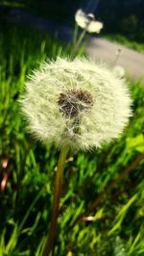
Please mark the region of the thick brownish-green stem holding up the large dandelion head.
<svg viewBox="0 0 144 256"><path fill-rule="evenodd" d="M51 226L49 231L49 236L43 251L43 256L48 256L53 248L55 242L55 236L57 231L57 220L59 215L60 208L60 195L62 188L62 177L63 170L65 166L65 159L68 153L69 147L64 146L60 151L60 158L57 166L56 180L55 180L55 192L54 192L54 202L53 202L53 211L51 218Z"/></svg>

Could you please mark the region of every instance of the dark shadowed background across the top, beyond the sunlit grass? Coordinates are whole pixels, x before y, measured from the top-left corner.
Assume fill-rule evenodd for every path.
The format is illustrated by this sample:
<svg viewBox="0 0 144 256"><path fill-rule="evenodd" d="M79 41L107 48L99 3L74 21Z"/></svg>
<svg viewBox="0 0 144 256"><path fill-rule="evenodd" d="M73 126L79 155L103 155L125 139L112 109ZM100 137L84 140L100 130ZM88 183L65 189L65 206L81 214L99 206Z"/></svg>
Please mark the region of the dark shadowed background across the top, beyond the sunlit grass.
<svg viewBox="0 0 144 256"><path fill-rule="evenodd" d="M103 33L122 34L141 42L144 40L144 2L142 0L1 0L1 26L4 26L5 22L11 25L11 20L22 23L24 14L28 13L32 14L32 19L41 16L65 26L73 26L74 15L78 9L83 9L85 13L94 13L96 17L103 20L105 23ZM25 19L25 22L27 23L28 20ZM30 23L35 26L33 22L30 21Z"/></svg>

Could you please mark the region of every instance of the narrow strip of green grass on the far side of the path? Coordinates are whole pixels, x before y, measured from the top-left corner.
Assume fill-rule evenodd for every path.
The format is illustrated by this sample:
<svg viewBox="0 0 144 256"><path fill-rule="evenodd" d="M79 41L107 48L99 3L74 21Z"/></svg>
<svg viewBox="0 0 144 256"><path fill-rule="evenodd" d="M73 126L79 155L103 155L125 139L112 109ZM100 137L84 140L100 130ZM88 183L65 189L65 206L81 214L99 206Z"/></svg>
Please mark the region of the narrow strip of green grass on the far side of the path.
<svg viewBox="0 0 144 256"><path fill-rule="evenodd" d="M122 35L107 35L105 36L105 38L108 38L111 41L123 44L129 48L132 48L137 52L144 53L144 43L132 41Z"/></svg>

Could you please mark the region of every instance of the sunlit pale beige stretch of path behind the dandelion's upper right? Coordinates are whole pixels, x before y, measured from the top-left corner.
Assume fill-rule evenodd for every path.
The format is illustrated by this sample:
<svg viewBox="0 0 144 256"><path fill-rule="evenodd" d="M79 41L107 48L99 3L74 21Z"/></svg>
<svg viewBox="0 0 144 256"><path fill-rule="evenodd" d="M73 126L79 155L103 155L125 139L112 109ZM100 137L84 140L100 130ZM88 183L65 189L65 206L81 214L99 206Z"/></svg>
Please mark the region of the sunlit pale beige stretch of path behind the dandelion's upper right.
<svg viewBox="0 0 144 256"><path fill-rule="evenodd" d="M122 49L117 64L125 67L127 75L133 79L144 78L144 54L132 49L113 43L103 38L91 38L86 46L86 53L95 60L103 60L108 64L113 63L116 52Z"/></svg>

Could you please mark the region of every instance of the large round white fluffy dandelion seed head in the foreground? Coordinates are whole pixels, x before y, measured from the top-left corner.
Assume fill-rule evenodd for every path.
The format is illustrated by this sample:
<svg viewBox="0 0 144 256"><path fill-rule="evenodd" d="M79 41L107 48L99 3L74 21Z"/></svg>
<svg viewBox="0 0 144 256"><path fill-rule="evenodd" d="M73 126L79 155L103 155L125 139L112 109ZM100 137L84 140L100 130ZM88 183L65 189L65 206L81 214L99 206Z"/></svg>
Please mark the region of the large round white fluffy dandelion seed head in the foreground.
<svg viewBox="0 0 144 256"><path fill-rule="evenodd" d="M72 149L117 138L132 115L124 80L85 59L42 64L26 83L21 106L36 138Z"/></svg>

